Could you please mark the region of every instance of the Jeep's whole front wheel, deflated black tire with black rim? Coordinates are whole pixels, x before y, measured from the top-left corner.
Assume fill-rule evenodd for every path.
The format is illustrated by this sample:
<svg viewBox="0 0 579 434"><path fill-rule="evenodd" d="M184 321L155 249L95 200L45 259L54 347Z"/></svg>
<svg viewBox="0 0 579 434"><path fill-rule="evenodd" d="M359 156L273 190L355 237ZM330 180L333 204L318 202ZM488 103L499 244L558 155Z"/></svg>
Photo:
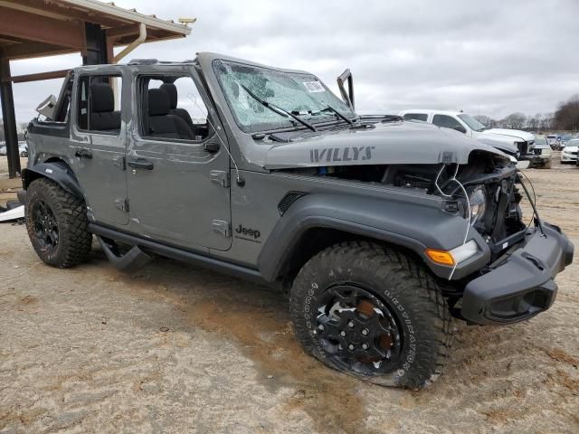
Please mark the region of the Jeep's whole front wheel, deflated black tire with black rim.
<svg viewBox="0 0 579 434"><path fill-rule="evenodd" d="M435 280L418 261L367 242L309 259L291 288L290 311L309 354L381 385L426 386L451 349L451 315Z"/></svg>

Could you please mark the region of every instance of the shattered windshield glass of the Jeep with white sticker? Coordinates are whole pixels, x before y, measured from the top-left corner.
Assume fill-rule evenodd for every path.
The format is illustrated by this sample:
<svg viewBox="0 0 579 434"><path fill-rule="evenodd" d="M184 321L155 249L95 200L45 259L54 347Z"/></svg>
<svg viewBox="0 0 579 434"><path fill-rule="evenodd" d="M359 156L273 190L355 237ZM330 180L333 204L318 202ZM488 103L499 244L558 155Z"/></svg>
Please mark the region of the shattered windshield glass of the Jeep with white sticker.
<svg viewBox="0 0 579 434"><path fill-rule="evenodd" d="M215 61L214 70L235 120L244 131L303 127L291 115L313 125L344 122L342 117L356 116L324 83L308 73L228 61Z"/></svg>

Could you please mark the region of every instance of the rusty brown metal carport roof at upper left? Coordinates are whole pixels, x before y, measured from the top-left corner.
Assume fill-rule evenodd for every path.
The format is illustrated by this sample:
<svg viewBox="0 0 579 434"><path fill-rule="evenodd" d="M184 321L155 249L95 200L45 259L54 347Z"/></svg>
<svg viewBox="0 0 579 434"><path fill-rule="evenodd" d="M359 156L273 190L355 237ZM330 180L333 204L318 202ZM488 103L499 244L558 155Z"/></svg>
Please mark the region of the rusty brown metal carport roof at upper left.
<svg viewBox="0 0 579 434"><path fill-rule="evenodd" d="M112 46L137 39L140 24L147 26L145 42L191 33L186 24L95 0L0 0L0 23L0 52L8 59L84 52L84 23L100 24Z"/></svg>

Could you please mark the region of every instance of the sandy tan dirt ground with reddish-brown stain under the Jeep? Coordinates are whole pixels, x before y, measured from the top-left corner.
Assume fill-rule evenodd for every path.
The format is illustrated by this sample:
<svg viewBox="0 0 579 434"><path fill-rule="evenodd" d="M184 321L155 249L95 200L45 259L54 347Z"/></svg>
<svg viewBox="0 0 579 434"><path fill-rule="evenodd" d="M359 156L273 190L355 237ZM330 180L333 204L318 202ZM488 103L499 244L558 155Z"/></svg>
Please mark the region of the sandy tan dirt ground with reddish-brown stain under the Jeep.
<svg viewBox="0 0 579 434"><path fill-rule="evenodd" d="M579 169L527 175L579 244ZM127 276L96 245L52 269L24 226L3 224L0 432L577 433L578 280L574 264L527 323L457 322L445 373L409 392L303 354L280 295L170 260Z"/></svg>

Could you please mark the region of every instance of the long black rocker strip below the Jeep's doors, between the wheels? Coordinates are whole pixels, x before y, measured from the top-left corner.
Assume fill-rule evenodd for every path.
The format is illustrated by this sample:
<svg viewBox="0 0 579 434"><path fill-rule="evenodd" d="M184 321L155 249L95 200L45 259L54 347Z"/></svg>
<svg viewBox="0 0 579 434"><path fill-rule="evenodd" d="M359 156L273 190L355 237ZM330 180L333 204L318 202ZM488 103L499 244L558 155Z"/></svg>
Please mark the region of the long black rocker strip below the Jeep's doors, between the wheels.
<svg viewBox="0 0 579 434"><path fill-rule="evenodd" d="M131 246L138 246L145 252L150 251L166 258L182 260L195 266L203 267L204 269L213 269L214 271L228 274L235 278L250 280L270 288L280 288L277 283L264 280L261 277L261 273L257 269L249 269L241 265L226 262L221 259L210 258L189 250L167 246L166 244L147 240L126 232L117 231L115 229L102 226L98 223L89 223L89 231L96 235L100 235L101 237L109 238L110 240L122 241Z"/></svg>

